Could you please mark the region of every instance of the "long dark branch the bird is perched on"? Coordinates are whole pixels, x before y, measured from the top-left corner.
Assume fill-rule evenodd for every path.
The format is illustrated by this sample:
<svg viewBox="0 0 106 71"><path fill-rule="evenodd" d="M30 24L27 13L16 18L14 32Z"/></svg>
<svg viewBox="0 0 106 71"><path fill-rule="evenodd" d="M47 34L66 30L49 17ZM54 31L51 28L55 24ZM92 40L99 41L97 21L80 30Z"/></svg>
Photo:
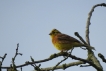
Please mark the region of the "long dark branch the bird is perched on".
<svg viewBox="0 0 106 71"><path fill-rule="evenodd" d="M53 54L51 55L49 58L46 58L46 59L43 59L43 60L39 60L39 61L34 61L34 62L29 62L27 61L25 64L22 64L22 65L18 65L18 66L15 66L16 68L21 68L21 67L24 67L24 66L27 66L27 65L31 65L31 64L35 64L35 63L42 63L42 62L46 62L46 61L49 61L49 60L52 60L56 57L59 57L59 56L68 56L72 59L75 59L75 60L80 60L82 61L83 63L89 63L90 65L96 67L91 61L88 61L86 59L82 59L82 58L79 58L79 57L76 57L76 56L73 56L69 53L66 53L66 52L60 52L60 53L57 53L57 54ZM7 68L11 68L11 67L1 67L2 69L7 69ZM56 67L57 68L57 67Z"/></svg>

